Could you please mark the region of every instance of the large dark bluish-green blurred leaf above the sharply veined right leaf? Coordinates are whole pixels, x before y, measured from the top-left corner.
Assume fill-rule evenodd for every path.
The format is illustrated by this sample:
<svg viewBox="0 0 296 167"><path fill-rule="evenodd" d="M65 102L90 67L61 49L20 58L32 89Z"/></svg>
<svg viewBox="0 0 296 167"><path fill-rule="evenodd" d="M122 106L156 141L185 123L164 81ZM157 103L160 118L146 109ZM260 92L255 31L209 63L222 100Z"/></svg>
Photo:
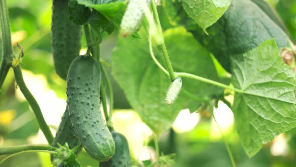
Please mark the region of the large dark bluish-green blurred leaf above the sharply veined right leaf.
<svg viewBox="0 0 296 167"><path fill-rule="evenodd" d="M290 47L288 36L250 0L233 0L221 19L207 29L190 30L220 64L231 72L230 56L247 52L274 38L279 50Z"/></svg>

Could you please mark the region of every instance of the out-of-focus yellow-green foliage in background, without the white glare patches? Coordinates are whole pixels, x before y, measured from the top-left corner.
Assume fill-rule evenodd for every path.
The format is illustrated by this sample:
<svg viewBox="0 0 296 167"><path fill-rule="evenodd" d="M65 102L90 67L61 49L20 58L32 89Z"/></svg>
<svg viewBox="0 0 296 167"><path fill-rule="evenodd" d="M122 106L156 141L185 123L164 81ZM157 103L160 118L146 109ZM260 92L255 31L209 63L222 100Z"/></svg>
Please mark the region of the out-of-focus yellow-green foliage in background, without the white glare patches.
<svg viewBox="0 0 296 167"><path fill-rule="evenodd" d="M54 71L53 58L51 54L51 3L50 0L9 0L9 15L15 53L20 50L16 47L19 42L24 47L25 57L22 68L30 70L35 75L42 75L46 78L49 90L54 91L58 98L66 99L66 83L58 77ZM288 28L292 41L296 42L296 1L279 0L275 4L282 21ZM160 7L160 18L164 29L174 27ZM101 44L102 58L110 63L112 49L116 46L117 34L103 36ZM82 41L82 48L86 48L85 38ZM1 50L1 49L0 49ZM110 69L107 69L110 75ZM110 75L111 76L111 75ZM114 90L114 108L128 109L128 104L121 88L111 78ZM15 89L15 81L10 71L4 87L0 92L0 145L19 145L31 143L32 136L38 134L38 123L35 115L29 108L29 104L20 98ZM62 113L64 108L58 109ZM57 111L53 111L57 113ZM5 115L7 114L7 115ZM4 116L8 123L1 120ZM60 120L61 115L55 115L55 120ZM57 125L55 125L57 126ZM174 130L164 133L160 140L160 148L166 154L177 152L176 167L183 166L231 166L229 156L223 139L213 140L210 135L212 127L211 119L202 116L198 125L190 132L177 134ZM289 144L288 153L282 156L274 156L270 153L270 145L264 148L253 158L249 159L244 153L235 130L231 129L225 137L229 141L230 148L234 154L237 166L240 167L288 167L295 166L296 132L290 131L287 134ZM42 135L42 134L41 134ZM150 139L150 145L154 147ZM130 143L132 144L132 143ZM5 156L0 156L0 160ZM85 151L78 155L78 161L82 166L98 166L98 162L90 158ZM25 165L24 165L25 164ZM15 156L2 166L51 166L49 155L46 153L28 153Z"/></svg>

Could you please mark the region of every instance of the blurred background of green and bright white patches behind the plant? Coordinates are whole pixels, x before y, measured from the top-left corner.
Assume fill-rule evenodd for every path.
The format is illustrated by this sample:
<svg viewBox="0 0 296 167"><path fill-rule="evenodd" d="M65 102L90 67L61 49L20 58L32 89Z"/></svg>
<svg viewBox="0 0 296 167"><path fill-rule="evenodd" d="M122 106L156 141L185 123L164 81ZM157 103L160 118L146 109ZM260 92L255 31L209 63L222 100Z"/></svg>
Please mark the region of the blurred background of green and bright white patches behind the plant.
<svg viewBox="0 0 296 167"><path fill-rule="evenodd" d="M291 40L296 42L296 1L269 0L268 3L287 26ZM66 82L59 78L53 66L50 45L52 1L9 0L7 4L15 54L18 55L20 51L16 47L17 42L24 47L25 57L22 65L24 79L55 134L66 108ZM162 18L162 13L160 15ZM163 24L166 28L165 20ZM104 36L103 39L101 55L106 62L110 62L112 49L116 46L117 33ZM81 54L85 52L86 44L83 39ZM108 72L110 73L110 69ZM113 78L112 85L114 128L127 137L133 161L149 164L154 160L155 154L153 133L130 109L122 90ZM264 145L256 156L249 159L240 145L231 110L219 102L219 107L214 109L214 115L225 139L230 144L237 166L296 165L296 131L279 135ZM16 89L11 70L0 92L0 146L20 144L46 144L46 139L29 104ZM160 148L165 154L177 153L175 166L178 167L231 166L223 135L207 111L192 114L189 110L181 111L173 128L161 137ZM5 155L0 156L0 160L4 157ZM52 166L49 157L48 153L26 153L7 160L2 166ZM98 162L90 158L85 151L78 155L78 161L82 166L98 166Z"/></svg>

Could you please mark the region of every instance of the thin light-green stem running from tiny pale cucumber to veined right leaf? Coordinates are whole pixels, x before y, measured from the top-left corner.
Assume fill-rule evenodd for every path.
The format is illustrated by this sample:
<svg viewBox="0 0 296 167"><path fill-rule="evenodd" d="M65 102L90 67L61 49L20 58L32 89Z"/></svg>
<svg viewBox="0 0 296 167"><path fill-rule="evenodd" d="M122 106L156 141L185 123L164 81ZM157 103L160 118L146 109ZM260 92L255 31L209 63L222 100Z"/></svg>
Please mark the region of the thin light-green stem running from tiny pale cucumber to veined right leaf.
<svg viewBox="0 0 296 167"><path fill-rule="evenodd" d="M211 79L207 79L207 78L204 78L204 77L201 77L201 76L197 76L197 75L194 75L194 74L191 74L191 73L176 72L176 75L177 75L177 77L187 77L187 78L203 81L203 82L206 82L208 84L215 85L217 87L221 87L221 88L224 88L224 89L229 89L229 90L235 91L237 93L241 93L241 94L244 93L243 91L241 91L239 89L236 89L236 88L230 87L228 85L221 84L220 82L217 82L217 81L214 81L214 80L211 80Z"/></svg>

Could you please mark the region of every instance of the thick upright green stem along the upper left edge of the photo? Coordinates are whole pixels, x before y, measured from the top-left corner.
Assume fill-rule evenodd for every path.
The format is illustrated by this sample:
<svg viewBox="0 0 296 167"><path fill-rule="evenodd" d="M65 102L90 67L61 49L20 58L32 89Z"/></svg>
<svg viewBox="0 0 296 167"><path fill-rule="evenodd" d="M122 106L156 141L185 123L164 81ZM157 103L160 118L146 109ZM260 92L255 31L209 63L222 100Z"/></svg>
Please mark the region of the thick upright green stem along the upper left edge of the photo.
<svg viewBox="0 0 296 167"><path fill-rule="evenodd" d="M12 61L12 41L10 33L10 22L6 0L0 0L0 20L1 20L1 32L2 32L2 47L3 47L3 61L0 67L0 89L4 83L7 73L11 67ZM2 53L0 53L2 54ZM1 59L0 59L1 62Z"/></svg>

